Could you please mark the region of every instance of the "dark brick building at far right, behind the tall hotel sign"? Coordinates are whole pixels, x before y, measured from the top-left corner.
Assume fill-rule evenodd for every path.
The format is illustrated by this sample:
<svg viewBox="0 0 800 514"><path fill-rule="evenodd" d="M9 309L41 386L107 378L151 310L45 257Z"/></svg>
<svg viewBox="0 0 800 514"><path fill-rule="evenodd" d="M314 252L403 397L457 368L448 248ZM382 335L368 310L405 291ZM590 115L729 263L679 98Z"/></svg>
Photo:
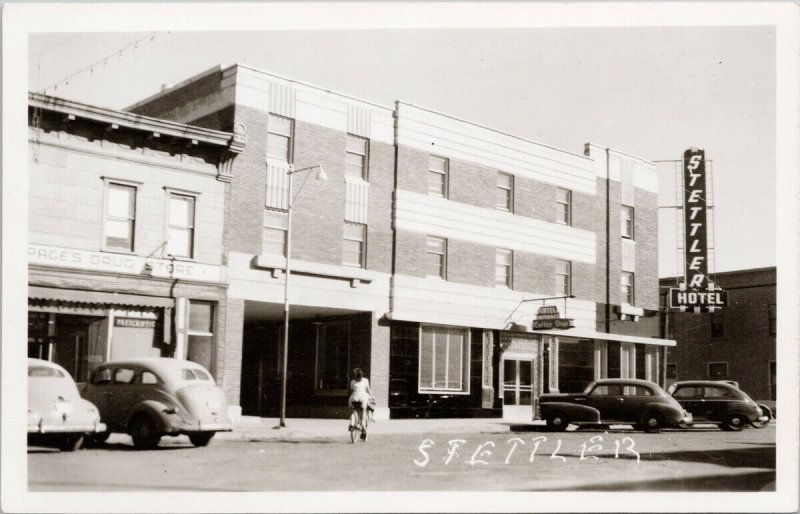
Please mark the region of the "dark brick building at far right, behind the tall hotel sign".
<svg viewBox="0 0 800 514"><path fill-rule="evenodd" d="M678 341L668 355L668 382L734 380L753 399L774 402L775 278L774 267L715 273L714 283L728 292L722 310L665 310L667 337ZM662 291L677 287L677 283L674 277L662 278Z"/></svg>

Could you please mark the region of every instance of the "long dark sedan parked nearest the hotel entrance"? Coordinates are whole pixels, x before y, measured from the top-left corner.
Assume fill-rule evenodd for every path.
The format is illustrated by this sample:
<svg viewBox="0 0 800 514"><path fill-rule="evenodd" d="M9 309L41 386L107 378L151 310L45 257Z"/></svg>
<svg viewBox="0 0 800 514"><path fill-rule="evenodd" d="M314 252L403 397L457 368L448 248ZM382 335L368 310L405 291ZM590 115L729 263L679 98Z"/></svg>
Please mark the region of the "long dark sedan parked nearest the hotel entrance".
<svg viewBox="0 0 800 514"><path fill-rule="evenodd" d="M691 415L661 387L637 379L609 378L592 382L581 393L544 394L539 408L552 431L566 430L574 423L630 424L637 430L658 432L691 421Z"/></svg>

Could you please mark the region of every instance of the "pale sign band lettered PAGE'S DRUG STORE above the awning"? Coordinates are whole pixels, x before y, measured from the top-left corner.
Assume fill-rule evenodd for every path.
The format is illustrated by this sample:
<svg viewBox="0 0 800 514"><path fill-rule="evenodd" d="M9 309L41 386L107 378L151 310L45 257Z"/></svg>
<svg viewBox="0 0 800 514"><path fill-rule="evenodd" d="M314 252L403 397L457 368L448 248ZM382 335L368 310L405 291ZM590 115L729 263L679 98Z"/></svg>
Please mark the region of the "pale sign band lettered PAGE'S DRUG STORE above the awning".
<svg viewBox="0 0 800 514"><path fill-rule="evenodd" d="M219 282L222 278L220 267L210 264L35 244L28 245L28 265L198 282Z"/></svg>

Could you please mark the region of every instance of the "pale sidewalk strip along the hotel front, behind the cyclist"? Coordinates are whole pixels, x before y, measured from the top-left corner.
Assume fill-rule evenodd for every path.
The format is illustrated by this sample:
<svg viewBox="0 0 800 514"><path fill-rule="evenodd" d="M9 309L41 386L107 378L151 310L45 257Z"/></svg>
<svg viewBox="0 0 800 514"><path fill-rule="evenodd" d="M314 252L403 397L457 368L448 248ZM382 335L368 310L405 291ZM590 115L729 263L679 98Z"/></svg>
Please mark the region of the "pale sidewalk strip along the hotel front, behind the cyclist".
<svg viewBox="0 0 800 514"><path fill-rule="evenodd" d="M277 429L278 418L243 416L233 432L220 432L219 440L263 441L273 439L307 440L347 435L347 419L289 418L286 427ZM499 418L390 419L370 423L370 434L498 434L523 429L543 422L515 423Z"/></svg>

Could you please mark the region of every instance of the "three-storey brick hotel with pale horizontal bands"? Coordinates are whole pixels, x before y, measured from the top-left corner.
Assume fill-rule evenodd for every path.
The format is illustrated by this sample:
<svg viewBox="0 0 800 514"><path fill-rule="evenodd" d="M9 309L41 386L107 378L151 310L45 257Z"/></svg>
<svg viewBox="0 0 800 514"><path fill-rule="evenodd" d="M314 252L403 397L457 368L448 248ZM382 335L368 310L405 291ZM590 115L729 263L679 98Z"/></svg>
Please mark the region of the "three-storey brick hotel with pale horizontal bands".
<svg viewBox="0 0 800 514"><path fill-rule="evenodd" d="M243 65L129 111L247 141L217 189L227 290L211 363L244 414L279 406L292 169L311 168L292 195L289 416L344 416L355 366L384 418L530 420L544 392L663 381L675 343L657 337L652 163Z"/></svg>

